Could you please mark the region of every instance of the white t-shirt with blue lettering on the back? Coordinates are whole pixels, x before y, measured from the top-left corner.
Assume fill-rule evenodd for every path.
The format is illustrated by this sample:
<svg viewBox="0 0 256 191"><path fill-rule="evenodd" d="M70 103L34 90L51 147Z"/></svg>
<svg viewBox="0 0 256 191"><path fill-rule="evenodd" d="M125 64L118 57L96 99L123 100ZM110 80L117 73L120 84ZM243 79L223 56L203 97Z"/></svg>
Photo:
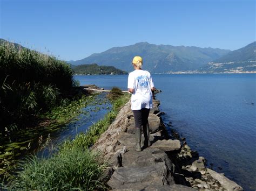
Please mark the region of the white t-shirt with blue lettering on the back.
<svg viewBox="0 0 256 191"><path fill-rule="evenodd" d="M146 70L136 69L128 76L128 89L132 88L131 109L152 108L152 91L154 87L151 75Z"/></svg>

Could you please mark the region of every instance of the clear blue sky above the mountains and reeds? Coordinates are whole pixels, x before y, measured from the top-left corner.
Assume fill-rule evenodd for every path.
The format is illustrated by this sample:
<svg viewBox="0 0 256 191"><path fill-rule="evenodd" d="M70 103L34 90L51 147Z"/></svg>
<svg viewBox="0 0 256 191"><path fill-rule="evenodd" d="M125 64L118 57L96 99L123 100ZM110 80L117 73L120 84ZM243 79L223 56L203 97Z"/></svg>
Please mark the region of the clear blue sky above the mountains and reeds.
<svg viewBox="0 0 256 191"><path fill-rule="evenodd" d="M255 41L255 0L0 2L0 38L63 60L141 41L231 50Z"/></svg>

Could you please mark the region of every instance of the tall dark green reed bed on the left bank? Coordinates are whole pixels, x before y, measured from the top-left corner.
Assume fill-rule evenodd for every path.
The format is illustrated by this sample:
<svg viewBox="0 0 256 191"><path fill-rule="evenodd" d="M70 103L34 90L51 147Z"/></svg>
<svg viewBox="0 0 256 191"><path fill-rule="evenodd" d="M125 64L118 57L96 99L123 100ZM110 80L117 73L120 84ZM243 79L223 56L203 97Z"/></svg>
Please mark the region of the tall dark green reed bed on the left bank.
<svg viewBox="0 0 256 191"><path fill-rule="evenodd" d="M70 66L54 56L2 42L0 132L57 105L72 88L72 75Z"/></svg>

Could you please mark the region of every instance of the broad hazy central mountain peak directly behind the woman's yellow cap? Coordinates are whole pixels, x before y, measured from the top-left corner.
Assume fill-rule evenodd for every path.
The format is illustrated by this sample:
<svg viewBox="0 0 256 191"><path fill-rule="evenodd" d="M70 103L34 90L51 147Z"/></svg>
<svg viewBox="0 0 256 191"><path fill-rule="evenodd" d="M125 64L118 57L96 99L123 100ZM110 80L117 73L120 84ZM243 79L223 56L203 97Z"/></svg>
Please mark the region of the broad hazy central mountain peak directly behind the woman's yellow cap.
<svg viewBox="0 0 256 191"><path fill-rule="evenodd" d="M85 59L71 61L73 65L97 63L114 66L131 71L133 56L140 55L144 59L144 69L153 73L169 71L193 70L204 63L220 58L230 50L219 48L199 48L188 46L154 45L137 43L124 47L113 47L105 52L92 54Z"/></svg>

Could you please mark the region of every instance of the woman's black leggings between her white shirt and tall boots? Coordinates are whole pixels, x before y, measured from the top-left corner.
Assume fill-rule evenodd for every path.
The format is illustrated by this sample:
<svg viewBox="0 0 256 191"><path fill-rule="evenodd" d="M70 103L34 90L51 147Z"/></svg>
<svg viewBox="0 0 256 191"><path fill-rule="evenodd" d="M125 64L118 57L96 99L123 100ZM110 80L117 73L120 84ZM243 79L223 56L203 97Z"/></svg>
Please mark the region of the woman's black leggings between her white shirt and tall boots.
<svg viewBox="0 0 256 191"><path fill-rule="evenodd" d="M149 117L150 109L142 108L140 110L132 110L134 121L135 121L135 128L141 128L142 125L147 124L147 118Z"/></svg>

